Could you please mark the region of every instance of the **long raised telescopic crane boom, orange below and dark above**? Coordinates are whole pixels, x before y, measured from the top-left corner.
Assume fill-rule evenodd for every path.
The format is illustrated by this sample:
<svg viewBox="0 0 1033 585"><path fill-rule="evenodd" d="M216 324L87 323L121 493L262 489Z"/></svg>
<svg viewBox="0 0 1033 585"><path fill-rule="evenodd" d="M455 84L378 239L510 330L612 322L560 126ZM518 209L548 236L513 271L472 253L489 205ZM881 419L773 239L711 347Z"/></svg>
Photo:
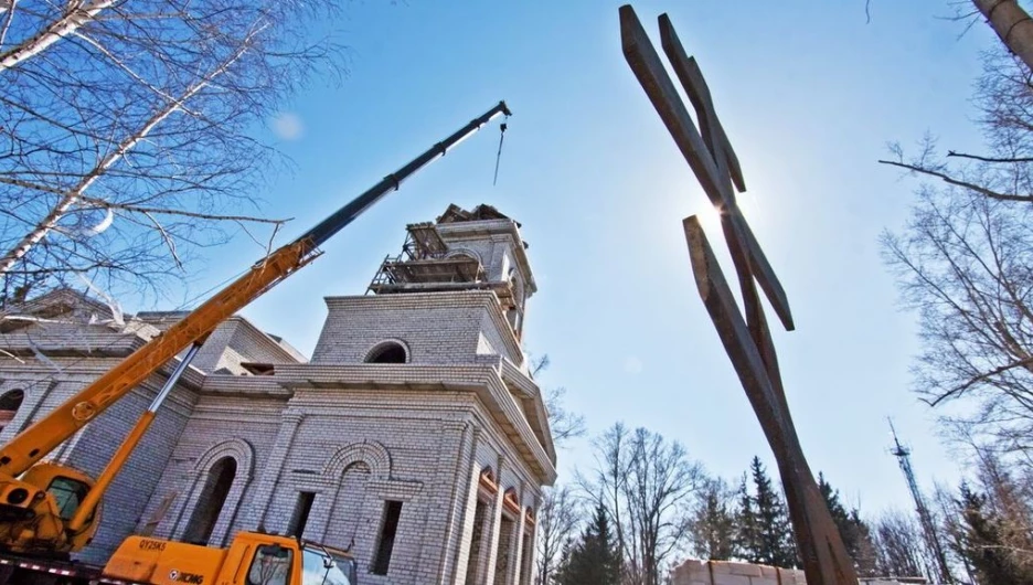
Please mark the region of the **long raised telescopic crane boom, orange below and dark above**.
<svg viewBox="0 0 1033 585"><path fill-rule="evenodd" d="M500 102L445 140L435 143L396 172L388 174L332 215L251 267L243 276L188 313L167 331L130 353L118 365L0 447L0 479L24 472L81 427L125 396L134 386L179 352L202 340L219 323L319 256L318 247L404 180L499 115L510 115Z"/></svg>

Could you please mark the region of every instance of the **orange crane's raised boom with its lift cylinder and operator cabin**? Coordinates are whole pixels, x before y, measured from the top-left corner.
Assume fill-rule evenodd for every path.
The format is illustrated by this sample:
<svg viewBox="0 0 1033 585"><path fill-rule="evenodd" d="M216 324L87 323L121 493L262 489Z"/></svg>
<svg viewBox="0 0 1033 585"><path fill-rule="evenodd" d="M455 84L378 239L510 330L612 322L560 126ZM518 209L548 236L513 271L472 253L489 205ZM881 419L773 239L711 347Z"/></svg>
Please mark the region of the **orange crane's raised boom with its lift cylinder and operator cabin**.
<svg viewBox="0 0 1033 585"><path fill-rule="evenodd" d="M511 115L504 102L500 102L445 140L435 143L294 242L258 260L243 276L216 292L167 331L150 340L95 382L19 433L7 445L0 446L0 553L24 555L26 559L63 560L68 553L86 546L99 524L98 512L102 496L153 421L161 402L171 392L179 375L187 369L190 360L212 330L265 291L316 259L321 254L319 252L321 244L388 192L397 190L404 180L444 156L450 148L499 115L507 117ZM184 349L188 351L172 376L96 480L74 467L41 462L41 459L62 442L89 424L97 415L123 398ZM258 536L251 533L247 538ZM163 543L164 541L150 539L148 542ZM151 546L153 552L158 549L161 551L179 550L179 547L192 545L166 543ZM230 550L234 550L234 546L236 546L235 543ZM252 553L255 550L258 549L252 546ZM121 549L119 551L121 552ZM185 557L196 554L200 553L190 552L185 554ZM172 556L182 555L172 554ZM119 554L116 554L111 562L119 559L121 559ZM124 565L124 561L125 559L118 562L123 562ZM243 563L243 560L241 562ZM10 556L0 559L0 565L11 563L17 564L21 561ZM31 561L25 561L22 565L25 563L32 564ZM0 583L2 582L3 579L0 578ZM205 583L207 582L210 581Z"/></svg>

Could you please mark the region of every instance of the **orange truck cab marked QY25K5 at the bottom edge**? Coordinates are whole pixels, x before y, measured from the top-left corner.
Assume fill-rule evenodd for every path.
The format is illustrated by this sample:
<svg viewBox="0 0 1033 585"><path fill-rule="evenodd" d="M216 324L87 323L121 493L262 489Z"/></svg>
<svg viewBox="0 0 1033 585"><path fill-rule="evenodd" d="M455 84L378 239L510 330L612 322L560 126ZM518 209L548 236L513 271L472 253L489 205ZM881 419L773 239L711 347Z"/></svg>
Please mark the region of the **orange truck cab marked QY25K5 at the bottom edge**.
<svg viewBox="0 0 1033 585"><path fill-rule="evenodd" d="M241 532L226 549L130 536L104 566L109 585L355 585L355 559L323 544Z"/></svg>

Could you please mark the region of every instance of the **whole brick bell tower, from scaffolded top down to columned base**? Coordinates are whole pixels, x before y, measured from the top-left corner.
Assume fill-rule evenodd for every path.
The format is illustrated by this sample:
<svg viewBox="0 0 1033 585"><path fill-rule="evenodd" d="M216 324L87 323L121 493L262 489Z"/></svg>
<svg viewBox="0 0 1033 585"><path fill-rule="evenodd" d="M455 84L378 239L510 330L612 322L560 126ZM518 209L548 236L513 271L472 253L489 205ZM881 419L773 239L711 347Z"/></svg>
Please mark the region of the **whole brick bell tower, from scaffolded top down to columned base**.
<svg viewBox="0 0 1033 585"><path fill-rule="evenodd" d="M310 362L244 379L266 396L256 416L283 401L278 425L188 425L263 460L233 528L350 549L368 584L530 584L556 454L520 342L536 290L526 248L489 205L408 225L364 295L326 299Z"/></svg>

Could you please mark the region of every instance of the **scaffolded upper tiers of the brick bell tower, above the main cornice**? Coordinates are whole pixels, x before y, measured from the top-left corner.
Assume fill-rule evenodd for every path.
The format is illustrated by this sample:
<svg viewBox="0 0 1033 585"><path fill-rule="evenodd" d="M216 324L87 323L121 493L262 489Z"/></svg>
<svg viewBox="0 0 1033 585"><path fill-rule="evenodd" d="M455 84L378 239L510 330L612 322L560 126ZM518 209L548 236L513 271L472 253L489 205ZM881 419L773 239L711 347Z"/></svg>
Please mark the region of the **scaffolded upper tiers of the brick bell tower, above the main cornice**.
<svg viewBox="0 0 1033 585"><path fill-rule="evenodd" d="M537 287L520 224L489 205L409 224L363 297L328 299L312 363L487 363L528 374L521 349ZM494 358L492 358L494 357Z"/></svg>

